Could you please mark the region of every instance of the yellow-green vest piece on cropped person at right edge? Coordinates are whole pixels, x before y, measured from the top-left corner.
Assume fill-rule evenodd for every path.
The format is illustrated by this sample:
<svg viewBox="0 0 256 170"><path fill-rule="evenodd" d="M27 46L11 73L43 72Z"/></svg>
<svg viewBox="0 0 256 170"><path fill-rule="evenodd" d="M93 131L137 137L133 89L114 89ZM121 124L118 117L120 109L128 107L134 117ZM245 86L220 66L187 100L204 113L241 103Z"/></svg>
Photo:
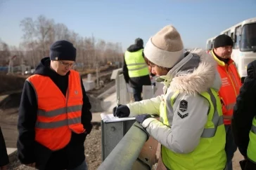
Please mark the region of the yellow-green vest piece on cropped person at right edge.
<svg viewBox="0 0 256 170"><path fill-rule="evenodd" d="M250 130L249 137L247 156L249 160L256 164L256 117L252 120L252 129Z"/></svg>

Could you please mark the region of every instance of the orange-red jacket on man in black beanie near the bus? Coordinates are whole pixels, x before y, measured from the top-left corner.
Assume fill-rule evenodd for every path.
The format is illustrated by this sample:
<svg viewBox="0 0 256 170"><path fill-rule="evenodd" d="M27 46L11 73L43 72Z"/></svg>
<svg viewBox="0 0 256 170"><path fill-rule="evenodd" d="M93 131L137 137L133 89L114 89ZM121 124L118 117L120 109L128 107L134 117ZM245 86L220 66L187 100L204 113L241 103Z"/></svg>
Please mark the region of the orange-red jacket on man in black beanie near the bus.
<svg viewBox="0 0 256 170"><path fill-rule="evenodd" d="M242 85L241 78L232 59L229 59L229 63L225 64L216 57L213 50L211 54L217 61L217 69L222 78L222 87L219 90L219 97L222 101L222 113L223 115L233 115L233 106L236 104L236 97ZM231 120L224 119L224 125L230 124Z"/></svg>

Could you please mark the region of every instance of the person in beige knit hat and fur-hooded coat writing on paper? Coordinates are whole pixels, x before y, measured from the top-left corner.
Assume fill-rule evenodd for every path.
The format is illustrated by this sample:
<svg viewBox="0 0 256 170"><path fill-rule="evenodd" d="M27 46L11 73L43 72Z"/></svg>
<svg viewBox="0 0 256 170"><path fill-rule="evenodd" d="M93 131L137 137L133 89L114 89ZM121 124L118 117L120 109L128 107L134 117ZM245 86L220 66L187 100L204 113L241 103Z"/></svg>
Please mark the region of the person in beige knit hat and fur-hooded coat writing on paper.
<svg viewBox="0 0 256 170"><path fill-rule="evenodd" d="M164 94L113 109L117 117L136 116L162 144L162 162L172 170L223 170L226 166L221 86L216 62L205 51L184 52L177 29L167 25L144 48ZM151 115L160 115L160 121Z"/></svg>

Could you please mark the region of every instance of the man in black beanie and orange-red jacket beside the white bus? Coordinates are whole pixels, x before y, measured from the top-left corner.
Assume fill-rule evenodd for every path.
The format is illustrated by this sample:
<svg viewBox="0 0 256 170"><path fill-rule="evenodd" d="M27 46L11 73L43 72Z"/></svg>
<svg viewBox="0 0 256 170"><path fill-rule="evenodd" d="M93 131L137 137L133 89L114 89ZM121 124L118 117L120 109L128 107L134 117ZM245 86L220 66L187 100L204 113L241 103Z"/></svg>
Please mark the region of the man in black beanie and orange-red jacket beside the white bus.
<svg viewBox="0 0 256 170"><path fill-rule="evenodd" d="M225 150L228 170L233 169L232 159L237 149L233 140L233 133L231 132L231 118L233 115L233 106L236 104L236 97L241 87L241 78L235 63L231 59L232 48L232 38L222 34L215 38L214 48L210 52L218 64L217 70L222 78L222 87L219 90L219 97L222 101L222 112L226 129Z"/></svg>

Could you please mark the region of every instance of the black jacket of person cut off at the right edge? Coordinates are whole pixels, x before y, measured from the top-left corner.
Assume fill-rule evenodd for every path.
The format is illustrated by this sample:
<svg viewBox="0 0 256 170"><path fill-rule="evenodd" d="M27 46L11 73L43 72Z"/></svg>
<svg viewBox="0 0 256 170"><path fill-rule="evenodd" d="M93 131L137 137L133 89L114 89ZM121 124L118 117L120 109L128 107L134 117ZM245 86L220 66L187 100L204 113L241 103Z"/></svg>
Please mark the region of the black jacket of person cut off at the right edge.
<svg viewBox="0 0 256 170"><path fill-rule="evenodd" d="M236 145L245 157L247 155L252 119L256 116L256 60L248 64L247 73L248 76L245 78L240 94L236 99L236 105L233 108L231 122Z"/></svg>

